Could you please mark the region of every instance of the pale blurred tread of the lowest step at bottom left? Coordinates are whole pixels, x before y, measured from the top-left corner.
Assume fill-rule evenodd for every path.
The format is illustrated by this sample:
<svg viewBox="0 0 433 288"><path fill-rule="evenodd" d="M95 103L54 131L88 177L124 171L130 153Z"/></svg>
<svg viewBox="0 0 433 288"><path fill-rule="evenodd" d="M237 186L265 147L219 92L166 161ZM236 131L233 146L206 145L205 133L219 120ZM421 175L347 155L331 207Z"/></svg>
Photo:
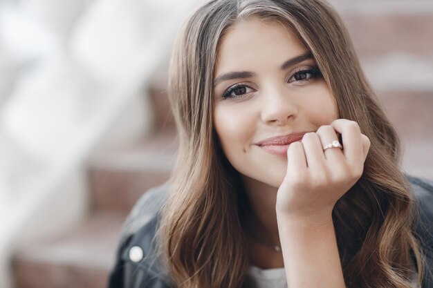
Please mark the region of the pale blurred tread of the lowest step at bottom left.
<svg viewBox="0 0 433 288"><path fill-rule="evenodd" d="M109 271L124 220L123 215L96 213L68 231L22 247L15 262Z"/></svg>

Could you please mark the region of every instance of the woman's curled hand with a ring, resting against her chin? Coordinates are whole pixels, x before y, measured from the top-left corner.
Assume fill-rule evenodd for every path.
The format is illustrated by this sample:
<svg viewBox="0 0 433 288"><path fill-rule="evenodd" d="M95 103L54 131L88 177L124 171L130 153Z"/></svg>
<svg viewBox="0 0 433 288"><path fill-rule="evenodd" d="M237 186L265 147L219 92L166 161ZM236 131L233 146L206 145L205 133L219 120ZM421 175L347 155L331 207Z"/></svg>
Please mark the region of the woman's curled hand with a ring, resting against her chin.
<svg viewBox="0 0 433 288"><path fill-rule="evenodd" d="M323 146L342 135L343 150ZM358 123L336 119L287 151L287 173L277 193L277 213L320 225L332 220L335 203L362 175L370 141Z"/></svg>

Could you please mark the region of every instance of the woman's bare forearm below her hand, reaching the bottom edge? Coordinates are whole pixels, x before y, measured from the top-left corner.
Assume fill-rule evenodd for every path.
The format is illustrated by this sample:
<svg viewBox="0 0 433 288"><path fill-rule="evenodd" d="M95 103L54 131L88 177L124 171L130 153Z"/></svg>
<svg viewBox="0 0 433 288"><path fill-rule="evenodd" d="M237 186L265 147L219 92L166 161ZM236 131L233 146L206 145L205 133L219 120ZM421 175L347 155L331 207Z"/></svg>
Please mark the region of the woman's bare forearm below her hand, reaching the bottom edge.
<svg viewBox="0 0 433 288"><path fill-rule="evenodd" d="M288 287L345 287L331 213L277 222Z"/></svg>

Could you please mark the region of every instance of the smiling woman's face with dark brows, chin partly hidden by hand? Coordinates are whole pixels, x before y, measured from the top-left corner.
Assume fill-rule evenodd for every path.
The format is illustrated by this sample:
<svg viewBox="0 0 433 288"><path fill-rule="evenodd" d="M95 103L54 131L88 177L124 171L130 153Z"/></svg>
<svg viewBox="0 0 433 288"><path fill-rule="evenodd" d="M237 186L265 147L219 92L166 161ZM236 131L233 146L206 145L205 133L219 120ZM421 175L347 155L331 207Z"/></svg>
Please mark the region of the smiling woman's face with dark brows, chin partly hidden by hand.
<svg viewBox="0 0 433 288"><path fill-rule="evenodd" d="M290 29L253 18L221 39L214 128L225 156L244 178L278 187L288 145L334 119L331 91Z"/></svg>

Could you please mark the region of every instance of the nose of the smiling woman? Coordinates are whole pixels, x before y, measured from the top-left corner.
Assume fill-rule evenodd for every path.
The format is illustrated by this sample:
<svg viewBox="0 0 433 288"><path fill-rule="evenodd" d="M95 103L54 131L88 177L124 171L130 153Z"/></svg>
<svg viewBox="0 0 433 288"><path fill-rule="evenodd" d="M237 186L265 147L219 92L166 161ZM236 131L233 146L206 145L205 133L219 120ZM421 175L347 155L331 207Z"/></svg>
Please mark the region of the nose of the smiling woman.
<svg viewBox="0 0 433 288"><path fill-rule="evenodd" d="M268 90L262 99L261 120L265 124L284 126L297 115L297 104L284 88Z"/></svg>

